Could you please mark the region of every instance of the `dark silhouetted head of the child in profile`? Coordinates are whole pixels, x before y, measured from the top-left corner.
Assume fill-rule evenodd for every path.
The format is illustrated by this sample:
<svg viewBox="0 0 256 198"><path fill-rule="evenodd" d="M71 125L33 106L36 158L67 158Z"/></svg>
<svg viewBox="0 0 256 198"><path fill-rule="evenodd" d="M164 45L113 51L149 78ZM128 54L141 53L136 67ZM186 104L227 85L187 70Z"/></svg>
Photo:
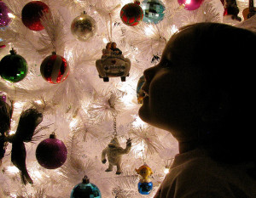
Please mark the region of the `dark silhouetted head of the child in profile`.
<svg viewBox="0 0 256 198"><path fill-rule="evenodd" d="M248 135L255 111L255 44L255 34L230 25L184 27L166 44L160 64L144 71L148 97L139 115L178 141L209 133L224 141L238 140L241 131Z"/></svg>

